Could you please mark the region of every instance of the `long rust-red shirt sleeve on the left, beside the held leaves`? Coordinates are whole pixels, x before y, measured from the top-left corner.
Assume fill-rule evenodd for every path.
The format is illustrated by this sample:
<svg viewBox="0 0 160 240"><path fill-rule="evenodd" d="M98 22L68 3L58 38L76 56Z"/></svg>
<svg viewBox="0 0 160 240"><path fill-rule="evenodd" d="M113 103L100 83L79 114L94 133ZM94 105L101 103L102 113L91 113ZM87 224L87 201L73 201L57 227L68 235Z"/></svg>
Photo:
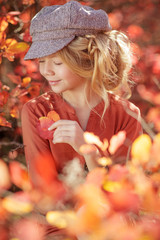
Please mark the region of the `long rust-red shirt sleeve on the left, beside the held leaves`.
<svg viewBox="0 0 160 240"><path fill-rule="evenodd" d="M43 109L28 102L22 108L22 135L29 177L35 187L54 182L57 177L49 141L40 137L37 122Z"/></svg>

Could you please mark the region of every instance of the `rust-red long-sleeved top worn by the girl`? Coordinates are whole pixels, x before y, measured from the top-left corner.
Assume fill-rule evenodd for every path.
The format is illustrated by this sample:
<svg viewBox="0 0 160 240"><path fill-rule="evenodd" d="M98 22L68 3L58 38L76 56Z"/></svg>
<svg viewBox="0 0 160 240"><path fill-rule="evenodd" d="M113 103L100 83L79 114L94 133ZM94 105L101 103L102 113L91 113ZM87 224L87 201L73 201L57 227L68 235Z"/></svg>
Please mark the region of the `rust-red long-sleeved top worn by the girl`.
<svg viewBox="0 0 160 240"><path fill-rule="evenodd" d="M105 124L101 124L100 115L103 113L103 108L104 102L102 100L91 110L86 131L93 132L101 140L104 138L110 140L119 131L126 131L127 138L125 144L113 156L116 162L124 163L132 142L142 133L139 109L128 100L109 94L109 106L103 118ZM46 116L51 110L55 110L61 119L74 120L79 123L74 108L54 92L47 92L24 105L22 109L22 130L25 157L30 173L34 159L41 154L50 156L50 167L53 169L53 173L54 171L61 173L66 162L72 160L74 157L78 157L84 163L84 158L69 144L53 144L52 140L45 140L39 136L36 127L38 119L41 116ZM43 158L41 158L41 161L43 161Z"/></svg>

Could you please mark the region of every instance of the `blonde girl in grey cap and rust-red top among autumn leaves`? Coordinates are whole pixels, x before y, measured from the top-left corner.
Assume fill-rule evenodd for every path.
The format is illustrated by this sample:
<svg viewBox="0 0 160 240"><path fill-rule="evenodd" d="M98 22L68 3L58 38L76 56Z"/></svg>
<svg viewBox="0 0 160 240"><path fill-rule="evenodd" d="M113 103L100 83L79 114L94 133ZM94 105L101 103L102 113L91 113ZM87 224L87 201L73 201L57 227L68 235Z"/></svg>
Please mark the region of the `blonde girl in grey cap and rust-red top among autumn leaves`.
<svg viewBox="0 0 160 240"><path fill-rule="evenodd" d="M49 159L53 179L75 157L89 171L98 166L97 151L90 157L79 151L85 131L110 140L124 130L126 140L112 156L115 163L124 164L132 142L142 132L139 109L114 94L120 88L130 93L131 53L126 35L111 30L105 11L76 1L44 7L33 18L30 33L33 43L25 59L39 59L40 73L52 89L22 110L25 156L33 184L41 185L37 166L44 166L41 179L46 177L43 156ZM37 123L52 110L60 120L50 126L55 131L53 140L48 140L40 136Z"/></svg>

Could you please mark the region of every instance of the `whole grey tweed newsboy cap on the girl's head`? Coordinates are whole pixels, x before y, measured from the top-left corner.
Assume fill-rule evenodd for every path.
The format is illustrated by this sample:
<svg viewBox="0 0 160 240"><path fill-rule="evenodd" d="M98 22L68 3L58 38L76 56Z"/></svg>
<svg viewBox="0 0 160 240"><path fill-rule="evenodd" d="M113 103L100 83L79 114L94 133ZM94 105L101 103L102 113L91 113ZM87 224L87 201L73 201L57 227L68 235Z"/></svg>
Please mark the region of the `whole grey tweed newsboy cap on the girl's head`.
<svg viewBox="0 0 160 240"><path fill-rule="evenodd" d="M31 21L32 44L24 59L51 55L67 46L76 36L110 29L108 15L101 9L95 10L77 1L44 7Z"/></svg>

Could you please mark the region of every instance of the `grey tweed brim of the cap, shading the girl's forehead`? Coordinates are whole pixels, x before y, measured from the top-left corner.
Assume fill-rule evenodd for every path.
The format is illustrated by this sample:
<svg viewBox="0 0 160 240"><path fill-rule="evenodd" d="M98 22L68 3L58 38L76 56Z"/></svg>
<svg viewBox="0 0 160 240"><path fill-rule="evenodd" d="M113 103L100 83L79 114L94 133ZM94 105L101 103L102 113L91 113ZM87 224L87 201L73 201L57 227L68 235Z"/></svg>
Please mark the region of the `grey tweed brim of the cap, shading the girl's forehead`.
<svg viewBox="0 0 160 240"><path fill-rule="evenodd" d="M46 57L67 46L75 37L37 41L31 44L24 60Z"/></svg>

